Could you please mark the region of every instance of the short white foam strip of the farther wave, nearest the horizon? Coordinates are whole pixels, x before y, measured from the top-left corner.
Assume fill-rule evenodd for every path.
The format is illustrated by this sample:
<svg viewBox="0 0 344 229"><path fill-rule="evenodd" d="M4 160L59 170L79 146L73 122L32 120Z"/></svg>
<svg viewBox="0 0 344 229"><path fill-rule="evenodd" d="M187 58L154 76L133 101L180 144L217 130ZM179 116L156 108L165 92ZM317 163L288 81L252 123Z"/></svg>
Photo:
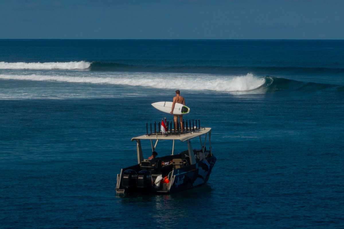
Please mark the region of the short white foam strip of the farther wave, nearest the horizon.
<svg viewBox="0 0 344 229"><path fill-rule="evenodd" d="M25 62L0 62L0 69L87 69L91 65L90 62L86 61L71 61L71 62L36 62L36 63L25 63Z"/></svg>

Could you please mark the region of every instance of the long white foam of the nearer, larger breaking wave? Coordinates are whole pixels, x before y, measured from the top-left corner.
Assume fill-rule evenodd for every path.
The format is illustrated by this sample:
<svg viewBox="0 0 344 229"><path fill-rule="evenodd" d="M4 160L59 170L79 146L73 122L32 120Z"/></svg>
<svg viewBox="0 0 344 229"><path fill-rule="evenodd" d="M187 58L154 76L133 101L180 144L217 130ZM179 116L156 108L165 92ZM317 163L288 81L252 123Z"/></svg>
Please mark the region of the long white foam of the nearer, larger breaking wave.
<svg viewBox="0 0 344 229"><path fill-rule="evenodd" d="M71 83L102 83L116 85L130 85L159 89L181 90L213 90L213 91L249 91L259 88L265 83L265 78L258 78L251 73L246 76L232 78L225 77L166 77L162 76L134 76L126 77L79 77L79 76L42 76L42 75L0 75L1 79L61 81Z"/></svg>

